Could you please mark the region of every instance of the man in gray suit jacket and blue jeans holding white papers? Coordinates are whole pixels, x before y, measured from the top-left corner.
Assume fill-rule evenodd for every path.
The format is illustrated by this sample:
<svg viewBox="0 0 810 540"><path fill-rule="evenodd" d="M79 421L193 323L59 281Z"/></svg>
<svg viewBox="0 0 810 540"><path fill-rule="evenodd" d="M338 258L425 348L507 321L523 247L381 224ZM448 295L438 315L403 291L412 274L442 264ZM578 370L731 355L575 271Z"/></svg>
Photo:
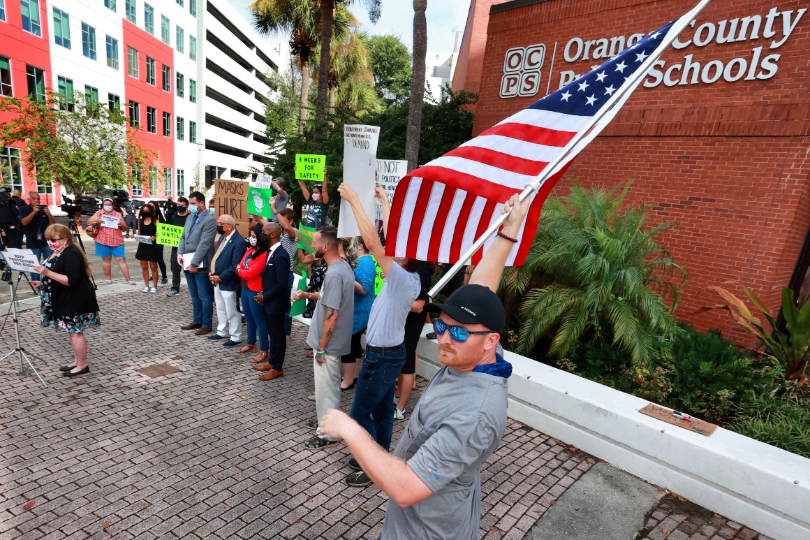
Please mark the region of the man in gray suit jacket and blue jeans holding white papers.
<svg viewBox="0 0 810 540"><path fill-rule="evenodd" d="M211 332L214 322L214 286L208 279L208 268L214 257L216 219L208 212L205 195L193 191L189 195L190 216L177 246L177 264L185 268L185 282L189 285L194 320L181 326L181 330L196 330L198 336ZM191 260L183 260L187 255ZM184 264L185 262L185 264Z"/></svg>

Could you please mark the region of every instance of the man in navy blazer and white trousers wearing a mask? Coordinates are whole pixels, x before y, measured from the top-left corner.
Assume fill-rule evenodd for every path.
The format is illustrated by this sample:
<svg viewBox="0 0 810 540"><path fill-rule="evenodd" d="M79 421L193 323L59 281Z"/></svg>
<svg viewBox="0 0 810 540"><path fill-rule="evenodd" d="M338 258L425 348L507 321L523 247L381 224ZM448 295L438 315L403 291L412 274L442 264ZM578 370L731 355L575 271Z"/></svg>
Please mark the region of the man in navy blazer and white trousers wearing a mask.
<svg viewBox="0 0 810 540"><path fill-rule="evenodd" d="M208 341L228 340L222 346L235 347L242 342L242 315L237 309L241 279L237 276L237 266L248 245L237 231L233 216L223 214L216 218L216 232L220 234L220 242L214 249L208 279L214 285L217 327Z"/></svg>

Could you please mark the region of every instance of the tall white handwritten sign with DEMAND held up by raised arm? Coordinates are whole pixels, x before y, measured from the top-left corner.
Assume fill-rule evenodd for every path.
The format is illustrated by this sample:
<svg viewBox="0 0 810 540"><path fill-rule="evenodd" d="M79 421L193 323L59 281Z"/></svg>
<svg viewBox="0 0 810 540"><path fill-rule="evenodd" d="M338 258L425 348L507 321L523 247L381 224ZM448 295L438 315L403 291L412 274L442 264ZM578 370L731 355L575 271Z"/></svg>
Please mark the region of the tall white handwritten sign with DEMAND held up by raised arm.
<svg viewBox="0 0 810 540"><path fill-rule="evenodd" d="M343 126L343 182L354 188L360 198L360 205L373 223L376 202L374 199L374 171L377 169L377 141L380 138L378 126ZM352 207L340 201L339 238L359 236L360 228L352 212Z"/></svg>

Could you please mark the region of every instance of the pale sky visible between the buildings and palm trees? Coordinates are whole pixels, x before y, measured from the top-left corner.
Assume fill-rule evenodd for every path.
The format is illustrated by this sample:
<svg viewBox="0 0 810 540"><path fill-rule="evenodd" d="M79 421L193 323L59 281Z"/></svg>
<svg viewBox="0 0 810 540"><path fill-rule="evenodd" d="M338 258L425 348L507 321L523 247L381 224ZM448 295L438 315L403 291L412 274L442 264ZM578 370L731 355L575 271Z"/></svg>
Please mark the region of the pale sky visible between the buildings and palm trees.
<svg viewBox="0 0 810 540"><path fill-rule="evenodd" d="M232 6L250 20L247 6L252 0L228 0ZM413 3L408 0L382 0L382 17L373 25L363 8L363 2L353 2L352 11L360 22L372 34L393 34L399 37L408 49L413 41ZM436 52L452 52L454 43L454 30L462 32L458 36L459 43L467 24L467 11L470 9L470 0L428 0L428 50Z"/></svg>

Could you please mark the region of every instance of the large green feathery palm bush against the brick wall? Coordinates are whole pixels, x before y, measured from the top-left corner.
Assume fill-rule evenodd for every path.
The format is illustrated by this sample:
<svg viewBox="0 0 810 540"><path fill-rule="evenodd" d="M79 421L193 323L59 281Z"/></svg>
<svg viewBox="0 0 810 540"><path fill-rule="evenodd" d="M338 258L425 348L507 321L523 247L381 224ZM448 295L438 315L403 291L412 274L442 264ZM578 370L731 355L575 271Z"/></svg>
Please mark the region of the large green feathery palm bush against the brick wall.
<svg viewBox="0 0 810 540"><path fill-rule="evenodd" d="M674 224L648 227L646 207L622 208L631 183L606 191L574 182L569 195L544 204L526 264L504 281L522 295L520 352L541 338L555 358L580 340L610 343L639 373L652 371L656 354L667 356L686 272L657 243Z"/></svg>

